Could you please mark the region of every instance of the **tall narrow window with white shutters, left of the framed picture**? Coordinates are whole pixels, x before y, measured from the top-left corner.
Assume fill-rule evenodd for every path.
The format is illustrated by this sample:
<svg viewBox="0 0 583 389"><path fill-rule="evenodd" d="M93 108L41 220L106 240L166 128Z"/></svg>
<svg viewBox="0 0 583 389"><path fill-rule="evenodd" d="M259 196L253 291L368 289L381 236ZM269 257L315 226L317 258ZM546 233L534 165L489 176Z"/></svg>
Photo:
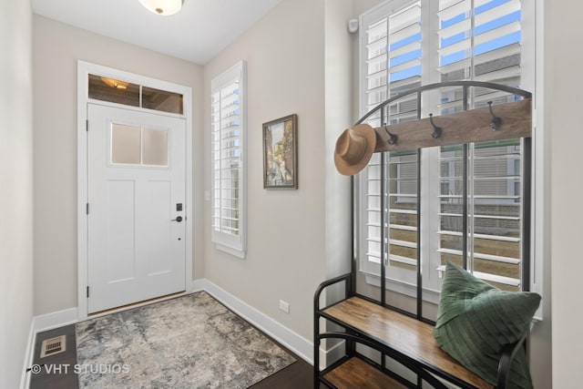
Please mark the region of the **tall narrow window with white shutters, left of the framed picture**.
<svg viewBox="0 0 583 389"><path fill-rule="evenodd" d="M210 83L212 241L222 251L245 255L245 63Z"/></svg>

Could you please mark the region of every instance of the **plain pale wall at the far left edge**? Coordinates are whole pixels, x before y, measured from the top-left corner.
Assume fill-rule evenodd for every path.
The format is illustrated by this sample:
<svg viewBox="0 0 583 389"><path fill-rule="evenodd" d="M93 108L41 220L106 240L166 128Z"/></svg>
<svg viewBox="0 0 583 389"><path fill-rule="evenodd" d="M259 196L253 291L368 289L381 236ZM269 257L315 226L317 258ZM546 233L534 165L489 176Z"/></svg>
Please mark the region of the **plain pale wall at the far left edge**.
<svg viewBox="0 0 583 389"><path fill-rule="evenodd" d="M0 6L0 387L16 388L33 315L32 17L29 1Z"/></svg>

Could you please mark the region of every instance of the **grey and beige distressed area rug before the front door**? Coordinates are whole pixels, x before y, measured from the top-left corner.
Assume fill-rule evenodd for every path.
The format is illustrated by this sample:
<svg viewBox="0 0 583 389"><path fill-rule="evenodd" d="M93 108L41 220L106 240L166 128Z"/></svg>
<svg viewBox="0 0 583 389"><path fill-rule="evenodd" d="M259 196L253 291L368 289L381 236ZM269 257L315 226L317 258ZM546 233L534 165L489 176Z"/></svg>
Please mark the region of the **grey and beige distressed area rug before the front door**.
<svg viewBox="0 0 583 389"><path fill-rule="evenodd" d="M79 322L80 388L247 388L295 362L197 292Z"/></svg>

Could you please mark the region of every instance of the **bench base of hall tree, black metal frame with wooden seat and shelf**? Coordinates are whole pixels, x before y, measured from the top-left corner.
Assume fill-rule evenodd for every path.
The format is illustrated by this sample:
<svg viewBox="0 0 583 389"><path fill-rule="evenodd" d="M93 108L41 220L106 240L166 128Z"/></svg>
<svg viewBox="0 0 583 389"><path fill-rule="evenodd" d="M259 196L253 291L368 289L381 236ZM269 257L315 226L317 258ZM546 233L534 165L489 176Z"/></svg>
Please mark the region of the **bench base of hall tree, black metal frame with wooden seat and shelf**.
<svg viewBox="0 0 583 389"><path fill-rule="evenodd" d="M329 286L345 283L345 297L330 306L320 307L322 292ZM447 388L441 380L461 388L493 388L482 378L465 369L445 353L437 343L431 323L377 302L351 291L352 273L322 282L314 295L314 388L325 384L331 388L416 388L426 382L435 388ZM320 318L333 322L344 329L340 332L321 332ZM524 344L526 336L514 344L508 344L498 365L496 388L506 388L507 373L512 358ZM345 354L339 361L320 369L320 343L322 339L344 340ZM384 363L374 362L359 353L355 344L371 347L385 358L402 363L417 375L412 383L384 368ZM437 379L439 377L440 379Z"/></svg>

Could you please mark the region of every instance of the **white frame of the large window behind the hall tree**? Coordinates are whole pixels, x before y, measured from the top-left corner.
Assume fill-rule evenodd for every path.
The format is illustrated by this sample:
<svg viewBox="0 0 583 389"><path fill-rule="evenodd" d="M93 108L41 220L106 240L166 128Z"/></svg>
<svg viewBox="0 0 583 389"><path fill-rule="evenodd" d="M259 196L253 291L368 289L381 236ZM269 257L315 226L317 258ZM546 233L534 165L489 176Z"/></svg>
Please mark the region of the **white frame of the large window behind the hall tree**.
<svg viewBox="0 0 583 389"><path fill-rule="evenodd" d="M359 37L359 108L360 108L360 114L361 116L363 116L366 112L367 112L367 98L366 98L366 33L367 33L367 26L369 26L370 24L374 23L375 20L378 20L380 17L383 16L387 16L387 15L391 15L393 12L398 11L399 9L404 9L409 5L414 4L415 1L414 0L409 0L409 1L404 1L404 0L389 0L386 1L380 5L375 6L373 9L365 12L363 15L360 15L360 37ZM435 15L435 12L432 13L433 8L436 8L436 4L437 2L433 2L433 1L427 1L427 0L421 0L421 4L422 4L422 20L425 20L424 17L435 17L432 15ZM534 15L535 15L535 9L534 9L534 5L529 6L527 5L528 2L522 2L522 7L523 7L523 16L522 18L525 19L526 17L530 18L527 22L527 27L523 27L522 29L522 33L526 36L523 37L523 41L527 41L527 42L533 42L535 39L535 35L537 34L536 29L532 28L532 25L535 24L534 21ZM430 61L429 66L422 66L422 74L421 74L421 83L422 85L425 84L431 84L434 82L439 82L438 78L436 77L435 73L438 74L438 72L436 72L436 68L437 66L435 66L435 63L438 62L438 56L437 56L437 48L439 47L436 44L436 41L432 41L431 39L435 39L436 34L435 31L431 31L429 30L429 26L430 23L423 23L424 26L422 26L422 28L424 28L422 30L422 34L424 36L430 36L429 39L423 38L422 39L422 47L424 50L428 50L429 47L432 47L433 50L432 52L430 52L431 54L429 55L424 55L424 60L425 58L428 58ZM527 28L530 28L528 31ZM428 34L429 33L429 34ZM433 54L435 53L435 54ZM535 90L535 77L536 75L534 74L534 69L535 69L535 53L534 53L534 48L528 48L528 47L523 47L522 50L522 56L524 57L523 61L528 61L528 65L526 67L527 70L527 75L524 75L525 70L523 70L523 74L521 74L521 84L523 88L526 88L528 90ZM438 65L438 64L437 64ZM432 72L433 74L429 74L429 72ZM435 72L435 73L434 73ZM387 97L388 98L388 97ZM426 101L424 100L423 104L422 104L422 109L423 106L425 105ZM422 110L422 115L426 116L428 114L428 112L424 112L424 110ZM536 116L533 114L533 123L536 120ZM534 126L533 126L534 128ZM533 131L533 140L535 140L537 136L537 133L535 131ZM533 142L533 145L536 145L536 142ZM437 167L432 167L432 165L435 164L431 164L431 163L427 163L427 160L430 158L435 158L435 155L438 154L439 149L424 149L423 152L421 153L421 179L422 182L426 183L427 178L431 178L434 177L433 179L429 179L431 181L435 181L435 180L439 180L438 177L438 173L439 173L439 168ZM536 152L536 148L533 147L533 155ZM434 155L434 156L432 156ZM538 158L538 157L537 157ZM425 162L425 163L424 163ZM542 179L540 178L540 175L542 174L540 171L538 171L536 168L538 166L538 162L537 159L533 158L533 163L532 163L532 169L533 169L533 181L537 181L540 182L542 181ZM433 169L436 170L433 171ZM538 178L538 179L537 179ZM358 217L356 218L356 223L357 226L355 226L355 231L357 233L356 239L358 241L357 244L357 258L358 258L358 264L359 264L359 271L361 271L363 273L363 275L365 276L365 280L367 283L375 285L375 286L381 286L381 276L380 276L380 266L379 266L379 262L377 263L372 263L370 261L368 261L368 257L367 257L367 242L366 242L366 230L367 230L367 215L366 215L366 208L367 208L367 204L366 204L366 193L367 193L367 185L368 185L368 179L367 179L367 171L366 169L363 170L363 172L361 172L359 174L359 176L357 177L357 182L356 182L356 189L357 189L357 194L356 194L356 209L358 210ZM431 194L430 195L422 195L421 196L421 207L422 209L432 209L432 207L435 207L435 201L437 200L437 196L433 196L433 191L437 190L439 191L438 187L435 187L434 185L430 185L429 189L431 190ZM434 189L434 187L436 189ZM538 271L538 276L537 278L533 277L532 274L535 273L536 269L542 269L542 263L541 263L541 259L540 256L536 255L535 252L533 250L534 248L534 243L532 241L537 241L537 237L540 236L540 227L537 227L537 218L534 217L534 215L536 215L537 212L537 204L538 207L541 207L541 202L539 201L537 203L535 203L535 200L537 200L537 196L536 196L536 191L535 191L536 185L535 182L533 182L532 186L531 186L531 190L533 193L532 196L532 207L531 207L531 225L530 225L530 232L531 232L531 237L533 237L533 239L531 239L531 256L530 256L530 269L531 269L531 277L530 277L530 284L527 285L527 288L529 288L529 290L531 291L535 291L535 292L542 292L542 276L540 275L540 271ZM511 191L512 193L514 193L515 189L508 187L508 190ZM437 201L438 203L438 201ZM437 213L437 212L431 212L430 215L427 214L422 214L421 215L421 235L425 236L425 237L429 237L427 239L424 239L424 241L418 242L418 250L421 251L421 255L422 258L426 258L426 255L428 255L429 251L431 250L431 247L434 246L433 243L431 244L425 244L426 241L433 241L435 237L433 237L433 235L436 235L435 233L431 233L431 231L428 231L426 229L428 229L431 224L431 222L429 221L430 218L433 218L434 216L433 213ZM435 222L435 221L434 221ZM539 225L538 225L539 226ZM382 229L384 230L384 229ZM381 231L381 234L383 234L383 231ZM438 238L437 238L438 239ZM431 246L431 247L430 247ZM439 247L437 245L437 247ZM428 280L427 278L425 278L427 276L427 274L430 275L430 278L435 278L438 277L438 271L435 271L435 266L432 267L431 262L433 261L422 261L421 266L422 266L422 273L424 274L424 282L423 282L423 299L424 301L427 302L435 302L437 303L439 301L439 295L440 292L438 290L435 289L435 280ZM376 268L376 269L374 269ZM392 269L393 271L393 269ZM400 274L401 271L397 270L396 271L396 276L395 273L392 273L391 276L389 276L388 271L387 271L387 275L385 277L386 280L386 288L389 291L393 291L393 292L398 292L398 293L402 293L411 297L416 297L416 282L415 280L407 280L406 277L402 277L402 275ZM438 281L437 281L438 282ZM439 282L440 283L440 282ZM440 288L439 288L440 289Z"/></svg>

